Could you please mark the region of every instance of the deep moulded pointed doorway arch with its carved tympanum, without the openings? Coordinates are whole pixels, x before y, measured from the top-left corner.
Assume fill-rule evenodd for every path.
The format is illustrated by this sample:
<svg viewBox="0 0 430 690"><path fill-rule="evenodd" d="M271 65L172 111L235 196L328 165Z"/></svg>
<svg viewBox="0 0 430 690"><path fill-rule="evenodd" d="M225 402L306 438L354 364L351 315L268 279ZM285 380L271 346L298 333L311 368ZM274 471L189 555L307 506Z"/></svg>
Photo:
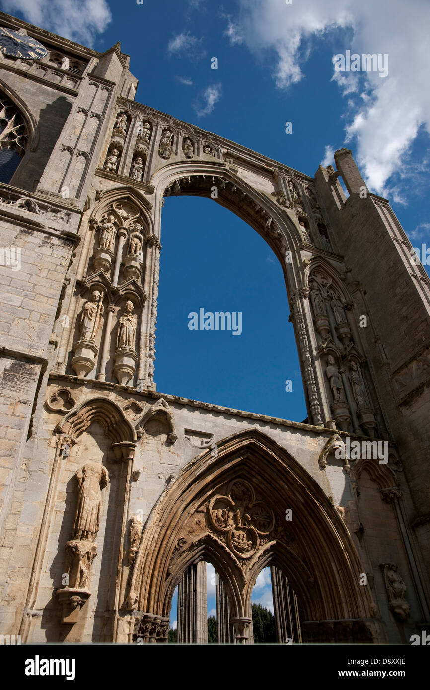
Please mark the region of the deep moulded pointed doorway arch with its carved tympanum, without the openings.
<svg viewBox="0 0 430 690"><path fill-rule="evenodd" d="M150 514L129 582L135 608L168 615L186 567L207 558L233 597L235 615L247 615L258 573L276 564L297 590L307 620L370 618L358 554L315 480L256 429L217 446L216 458L205 451L182 470ZM333 589L341 593L336 600Z"/></svg>

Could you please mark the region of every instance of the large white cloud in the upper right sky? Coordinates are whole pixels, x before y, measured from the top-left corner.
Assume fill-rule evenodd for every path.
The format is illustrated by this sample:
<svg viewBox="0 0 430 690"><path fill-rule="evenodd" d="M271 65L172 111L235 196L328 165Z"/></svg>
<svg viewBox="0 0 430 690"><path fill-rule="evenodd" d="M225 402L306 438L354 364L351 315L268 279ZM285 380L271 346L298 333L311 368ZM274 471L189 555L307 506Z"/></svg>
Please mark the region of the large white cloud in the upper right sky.
<svg viewBox="0 0 430 690"><path fill-rule="evenodd" d="M330 39L333 53L389 55L386 78L377 72L334 73L344 94L358 98L349 101L352 112L346 103L346 141L354 141L369 187L386 195L387 181L407 164L420 126L430 133L429 26L430 3L422 0L307 0L293 5L240 0L238 30L253 52L272 55L275 50L273 77L279 88L306 75L315 39Z"/></svg>

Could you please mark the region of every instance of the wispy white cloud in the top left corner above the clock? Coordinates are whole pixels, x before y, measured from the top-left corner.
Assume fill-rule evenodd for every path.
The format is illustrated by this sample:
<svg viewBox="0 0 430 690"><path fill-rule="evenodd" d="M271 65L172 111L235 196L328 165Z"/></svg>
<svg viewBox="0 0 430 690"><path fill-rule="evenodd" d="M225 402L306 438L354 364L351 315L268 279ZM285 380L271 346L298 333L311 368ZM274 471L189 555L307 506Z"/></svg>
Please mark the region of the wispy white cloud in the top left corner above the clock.
<svg viewBox="0 0 430 690"><path fill-rule="evenodd" d="M31 24L85 46L92 46L112 19L106 0L1 0L1 9L22 12Z"/></svg>

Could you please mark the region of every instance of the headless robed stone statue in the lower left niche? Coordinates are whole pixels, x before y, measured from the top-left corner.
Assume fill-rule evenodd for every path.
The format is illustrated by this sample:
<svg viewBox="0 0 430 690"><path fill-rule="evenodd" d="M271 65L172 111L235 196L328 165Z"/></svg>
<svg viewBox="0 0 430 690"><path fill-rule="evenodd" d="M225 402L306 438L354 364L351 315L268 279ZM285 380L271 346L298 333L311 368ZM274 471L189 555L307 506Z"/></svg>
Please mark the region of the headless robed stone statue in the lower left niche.
<svg viewBox="0 0 430 690"><path fill-rule="evenodd" d="M93 542L100 529L101 489L108 486L108 471L97 462L86 462L76 477L79 486L73 539Z"/></svg>

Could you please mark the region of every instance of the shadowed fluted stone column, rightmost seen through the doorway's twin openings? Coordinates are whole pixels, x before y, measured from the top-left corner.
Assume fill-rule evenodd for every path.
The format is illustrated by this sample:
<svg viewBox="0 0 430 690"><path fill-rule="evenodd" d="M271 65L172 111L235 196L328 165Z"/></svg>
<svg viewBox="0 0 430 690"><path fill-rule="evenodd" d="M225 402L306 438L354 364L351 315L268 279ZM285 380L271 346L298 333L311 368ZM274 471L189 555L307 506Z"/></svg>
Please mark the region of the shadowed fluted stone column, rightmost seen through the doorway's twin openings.
<svg viewBox="0 0 430 690"><path fill-rule="evenodd" d="M277 642L285 643L286 638L302 642L297 598L291 584L275 566L271 566L273 611Z"/></svg>

